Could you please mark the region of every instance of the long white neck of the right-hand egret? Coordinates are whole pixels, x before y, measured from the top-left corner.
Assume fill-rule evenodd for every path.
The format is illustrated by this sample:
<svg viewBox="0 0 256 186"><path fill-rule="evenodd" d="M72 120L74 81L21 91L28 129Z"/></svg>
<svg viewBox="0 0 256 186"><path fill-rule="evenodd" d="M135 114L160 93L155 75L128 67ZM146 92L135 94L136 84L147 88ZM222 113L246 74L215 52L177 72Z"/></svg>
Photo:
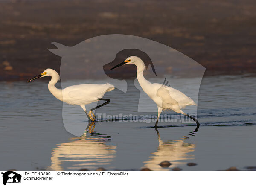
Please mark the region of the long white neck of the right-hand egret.
<svg viewBox="0 0 256 186"><path fill-rule="evenodd" d="M144 90L144 92L147 92L147 85L151 84L148 80L146 80L143 76L143 71L145 70L145 64L141 59L138 59L134 62L134 64L137 66L137 79L140 83L140 86Z"/></svg>

